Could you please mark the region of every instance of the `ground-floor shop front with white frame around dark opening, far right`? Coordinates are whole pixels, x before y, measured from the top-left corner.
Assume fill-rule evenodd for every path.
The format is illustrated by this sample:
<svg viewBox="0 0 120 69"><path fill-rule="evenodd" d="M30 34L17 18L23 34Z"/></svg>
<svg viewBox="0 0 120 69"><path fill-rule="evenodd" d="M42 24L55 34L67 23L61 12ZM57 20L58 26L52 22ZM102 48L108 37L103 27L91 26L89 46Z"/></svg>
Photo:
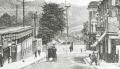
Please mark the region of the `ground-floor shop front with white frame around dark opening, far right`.
<svg viewBox="0 0 120 69"><path fill-rule="evenodd" d="M107 58L106 61L109 63L116 63L118 62L118 53L117 53L117 44L118 44L119 37L109 35L108 38L108 45L105 47L105 50L107 50Z"/></svg>

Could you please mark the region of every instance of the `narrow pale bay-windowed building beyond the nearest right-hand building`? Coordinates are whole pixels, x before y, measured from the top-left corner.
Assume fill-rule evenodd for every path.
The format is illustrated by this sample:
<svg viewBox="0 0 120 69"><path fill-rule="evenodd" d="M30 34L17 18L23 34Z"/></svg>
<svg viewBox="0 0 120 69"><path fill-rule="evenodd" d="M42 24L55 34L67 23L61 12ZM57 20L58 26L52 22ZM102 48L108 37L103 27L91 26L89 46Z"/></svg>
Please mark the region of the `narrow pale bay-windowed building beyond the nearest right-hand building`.
<svg viewBox="0 0 120 69"><path fill-rule="evenodd" d="M96 41L96 26L97 26L97 8L98 8L98 1L92 1L88 5L89 10L89 25L88 25L88 33L89 33L89 49L94 50L94 48L90 47Z"/></svg>

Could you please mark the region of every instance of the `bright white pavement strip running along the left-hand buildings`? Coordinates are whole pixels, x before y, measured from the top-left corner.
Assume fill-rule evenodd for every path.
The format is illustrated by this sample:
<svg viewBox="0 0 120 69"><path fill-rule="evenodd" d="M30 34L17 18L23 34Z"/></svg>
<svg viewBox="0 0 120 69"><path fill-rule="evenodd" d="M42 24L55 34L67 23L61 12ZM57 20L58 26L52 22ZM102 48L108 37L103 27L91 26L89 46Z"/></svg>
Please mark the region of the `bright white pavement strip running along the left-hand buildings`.
<svg viewBox="0 0 120 69"><path fill-rule="evenodd" d="M7 65L4 65L0 69L23 69L24 67L27 67L35 62L42 60L43 58L45 58L45 56L46 54L44 52L41 52L41 55L38 56L37 58L35 58L34 56L31 56L29 58L23 59L24 62L23 60L21 60L21 61L9 63Z"/></svg>

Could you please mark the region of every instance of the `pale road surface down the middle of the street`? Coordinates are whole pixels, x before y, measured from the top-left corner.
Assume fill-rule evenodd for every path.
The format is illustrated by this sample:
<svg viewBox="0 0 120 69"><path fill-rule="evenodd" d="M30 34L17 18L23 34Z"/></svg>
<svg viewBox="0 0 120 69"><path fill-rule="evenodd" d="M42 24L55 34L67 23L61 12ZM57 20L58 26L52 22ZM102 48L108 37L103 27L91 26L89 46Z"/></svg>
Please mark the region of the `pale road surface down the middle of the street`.
<svg viewBox="0 0 120 69"><path fill-rule="evenodd" d="M56 62L37 62L24 69L94 69L87 66L82 57L76 56L78 53L66 53L67 51L64 49L62 53L59 53L60 47L57 49L58 59Z"/></svg>

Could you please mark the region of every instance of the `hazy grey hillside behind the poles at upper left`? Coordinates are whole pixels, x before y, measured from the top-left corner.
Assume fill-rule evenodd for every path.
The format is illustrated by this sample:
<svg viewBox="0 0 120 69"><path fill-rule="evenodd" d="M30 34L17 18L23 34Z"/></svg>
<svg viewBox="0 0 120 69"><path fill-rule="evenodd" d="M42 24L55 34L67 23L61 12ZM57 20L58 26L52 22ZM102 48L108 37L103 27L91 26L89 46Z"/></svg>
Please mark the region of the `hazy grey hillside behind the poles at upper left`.
<svg viewBox="0 0 120 69"><path fill-rule="evenodd" d="M33 20L30 19L30 14L37 11L38 14L42 13L42 6L45 4L44 0L35 0L25 2L25 25L33 25ZM23 3L22 0L0 0L0 17L4 13L16 17L17 6L17 23L22 24L23 20ZM32 17L32 16L31 16Z"/></svg>

